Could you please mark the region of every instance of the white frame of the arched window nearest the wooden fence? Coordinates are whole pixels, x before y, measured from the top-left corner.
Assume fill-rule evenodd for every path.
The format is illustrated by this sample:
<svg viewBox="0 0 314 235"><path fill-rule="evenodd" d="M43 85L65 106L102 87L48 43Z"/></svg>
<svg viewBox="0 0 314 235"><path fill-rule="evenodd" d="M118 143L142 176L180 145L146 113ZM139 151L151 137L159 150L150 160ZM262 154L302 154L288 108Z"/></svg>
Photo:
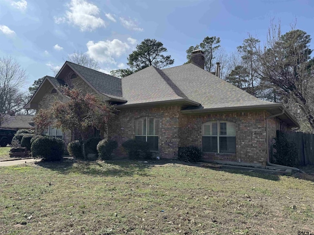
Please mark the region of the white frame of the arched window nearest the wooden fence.
<svg viewBox="0 0 314 235"><path fill-rule="evenodd" d="M212 135L212 123L217 123L217 135ZM227 129L226 129L226 135L221 135L221 129L220 129L220 123L226 123ZM205 134L205 125L210 125L210 135ZM233 125L234 127L234 134L228 135L228 132L232 132L232 130L229 130L228 126ZM220 153L220 138L219 137L235 137L236 140L236 124L235 122L231 121L224 121L224 120L213 120L208 121L206 123L203 123L202 125L202 151L203 151L203 137L217 137L217 152L208 152L208 153ZM236 150L235 150L236 153ZM235 154L235 153L223 153L223 154Z"/></svg>

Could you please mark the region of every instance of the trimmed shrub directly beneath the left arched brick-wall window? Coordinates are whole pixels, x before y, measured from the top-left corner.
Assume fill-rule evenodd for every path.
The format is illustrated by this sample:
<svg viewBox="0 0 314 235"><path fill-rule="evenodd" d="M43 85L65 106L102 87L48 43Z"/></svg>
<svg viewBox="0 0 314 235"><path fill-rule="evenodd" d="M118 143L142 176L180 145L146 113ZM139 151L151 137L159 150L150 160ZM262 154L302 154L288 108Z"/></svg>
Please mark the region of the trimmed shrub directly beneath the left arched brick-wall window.
<svg viewBox="0 0 314 235"><path fill-rule="evenodd" d="M152 157L152 153L149 151L149 143L146 141L128 140L122 143L122 147L127 151L131 160Z"/></svg>

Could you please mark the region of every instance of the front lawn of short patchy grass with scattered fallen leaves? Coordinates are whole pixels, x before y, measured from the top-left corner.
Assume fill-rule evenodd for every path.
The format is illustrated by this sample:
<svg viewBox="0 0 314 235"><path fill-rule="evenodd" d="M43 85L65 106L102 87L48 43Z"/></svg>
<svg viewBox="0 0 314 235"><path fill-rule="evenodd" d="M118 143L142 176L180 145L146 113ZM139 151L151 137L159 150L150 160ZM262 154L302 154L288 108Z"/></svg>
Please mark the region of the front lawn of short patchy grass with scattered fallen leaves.
<svg viewBox="0 0 314 235"><path fill-rule="evenodd" d="M155 164L0 167L0 234L314 233L313 176Z"/></svg>

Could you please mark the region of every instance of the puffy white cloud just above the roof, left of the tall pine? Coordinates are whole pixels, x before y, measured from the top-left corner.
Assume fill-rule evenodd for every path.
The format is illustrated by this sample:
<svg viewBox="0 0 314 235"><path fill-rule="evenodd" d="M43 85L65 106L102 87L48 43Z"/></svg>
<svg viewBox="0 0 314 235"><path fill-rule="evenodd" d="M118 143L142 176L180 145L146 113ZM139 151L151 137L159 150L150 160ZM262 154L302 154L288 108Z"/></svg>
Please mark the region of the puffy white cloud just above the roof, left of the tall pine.
<svg viewBox="0 0 314 235"><path fill-rule="evenodd" d="M89 41L86 46L88 48L87 54L90 57L99 62L111 64L116 64L115 58L120 57L130 49L127 43L123 43L118 39L99 41L97 43Z"/></svg>

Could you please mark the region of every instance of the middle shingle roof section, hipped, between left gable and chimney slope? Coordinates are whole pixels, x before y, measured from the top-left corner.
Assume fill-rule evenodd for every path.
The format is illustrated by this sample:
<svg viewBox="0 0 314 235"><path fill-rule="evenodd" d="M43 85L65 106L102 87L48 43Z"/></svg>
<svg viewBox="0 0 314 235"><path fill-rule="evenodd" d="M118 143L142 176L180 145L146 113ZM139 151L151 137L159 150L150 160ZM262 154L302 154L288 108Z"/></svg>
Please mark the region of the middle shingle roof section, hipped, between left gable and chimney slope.
<svg viewBox="0 0 314 235"><path fill-rule="evenodd" d="M128 101L121 106L183 100L198 105L198 103L188 100L176 84L163 71L154 66L122 78L122 93Z"/></svg>

